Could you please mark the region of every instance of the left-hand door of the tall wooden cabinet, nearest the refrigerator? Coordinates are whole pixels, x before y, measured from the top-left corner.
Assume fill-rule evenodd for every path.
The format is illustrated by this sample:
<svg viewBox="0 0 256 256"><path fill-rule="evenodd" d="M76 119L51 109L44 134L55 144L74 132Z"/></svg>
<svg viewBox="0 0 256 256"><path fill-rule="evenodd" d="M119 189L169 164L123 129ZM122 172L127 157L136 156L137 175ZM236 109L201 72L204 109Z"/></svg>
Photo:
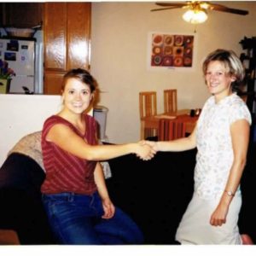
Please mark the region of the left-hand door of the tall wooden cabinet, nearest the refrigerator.
<svg viewBox="0 0 256 256"><path fill-rule="evenodd" d="M44 68L65 71L67 3L44 4Z"/></svg>

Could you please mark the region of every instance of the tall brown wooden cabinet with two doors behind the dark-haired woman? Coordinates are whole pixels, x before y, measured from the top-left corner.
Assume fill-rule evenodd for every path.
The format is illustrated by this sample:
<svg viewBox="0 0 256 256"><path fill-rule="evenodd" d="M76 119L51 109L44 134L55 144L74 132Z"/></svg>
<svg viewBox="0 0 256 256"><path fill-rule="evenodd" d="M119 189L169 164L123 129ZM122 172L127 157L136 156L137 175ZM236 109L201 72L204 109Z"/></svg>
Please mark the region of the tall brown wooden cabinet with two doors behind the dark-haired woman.
<svg viewBox="0 0 256 256"><path fill-rule="evenodd" d="M44 3L44 93L72 68L90 68L90 3Z"/></svg>

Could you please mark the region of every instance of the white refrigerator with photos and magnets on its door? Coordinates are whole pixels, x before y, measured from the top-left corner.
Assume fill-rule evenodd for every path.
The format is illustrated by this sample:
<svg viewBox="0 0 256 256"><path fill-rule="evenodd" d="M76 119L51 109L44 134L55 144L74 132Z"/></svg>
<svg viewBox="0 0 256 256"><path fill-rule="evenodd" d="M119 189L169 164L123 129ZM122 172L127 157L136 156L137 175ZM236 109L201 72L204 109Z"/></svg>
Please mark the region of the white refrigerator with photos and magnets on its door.
<svg viewBox="0 0 256 256"><path fill-rule="evenodd" d="M38 72L40 45L36 44L35 38L0 38L0 59L9 63L15 76L10 83L9 93L42 93Z"/></svg>

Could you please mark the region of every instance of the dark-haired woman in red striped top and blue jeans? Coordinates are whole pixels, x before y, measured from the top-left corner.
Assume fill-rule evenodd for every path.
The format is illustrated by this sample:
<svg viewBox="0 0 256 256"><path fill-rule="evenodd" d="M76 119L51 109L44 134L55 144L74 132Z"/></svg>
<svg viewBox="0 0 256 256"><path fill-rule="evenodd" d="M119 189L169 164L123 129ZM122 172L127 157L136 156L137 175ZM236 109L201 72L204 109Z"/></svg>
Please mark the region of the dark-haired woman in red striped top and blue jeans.
<svg viewBox="0 0 256 256"><path fill-rule="evenodd" d="M142 243L137 224L113 206L98 161L124 154L149 160L155 152L140 143L97 144L96 120L84 114L95 89L90 73L71 70L63 79L61 112L44 122L44 207L55 236L63 244Z"/></svg>

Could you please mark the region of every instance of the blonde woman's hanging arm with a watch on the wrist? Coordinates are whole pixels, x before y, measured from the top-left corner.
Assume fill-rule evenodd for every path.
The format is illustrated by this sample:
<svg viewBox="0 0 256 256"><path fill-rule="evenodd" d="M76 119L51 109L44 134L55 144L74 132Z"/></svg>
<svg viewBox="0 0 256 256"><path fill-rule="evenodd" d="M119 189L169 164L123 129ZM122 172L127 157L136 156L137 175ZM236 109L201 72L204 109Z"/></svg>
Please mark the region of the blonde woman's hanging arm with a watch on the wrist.
<svg viewBox="0 0 256 256"><path fill-rule="evenodd" d="M228 195L227 191L230 191L235 195L247 160L247 148L250 133L250 125L247 120L241 119L233 123L230 127L230 132L234 151L234 161L230 169L230 175L224 193L218 203L218 207L212 213L210 219L210 223L215 226L222 225L226 222L230 202L233 199L233 195Z"/></svg>

